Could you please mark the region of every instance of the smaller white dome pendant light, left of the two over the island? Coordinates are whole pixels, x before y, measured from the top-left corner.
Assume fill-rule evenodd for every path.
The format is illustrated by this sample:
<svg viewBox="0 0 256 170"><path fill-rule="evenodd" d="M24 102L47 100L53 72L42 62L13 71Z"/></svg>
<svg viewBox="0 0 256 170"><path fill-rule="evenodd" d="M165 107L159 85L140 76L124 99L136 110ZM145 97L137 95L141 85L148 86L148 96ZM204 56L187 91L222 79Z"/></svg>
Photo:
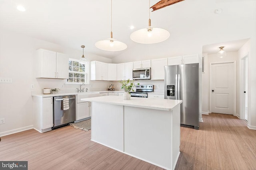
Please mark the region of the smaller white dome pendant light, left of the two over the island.
<svg viewBox="0 0 256 170"><path fill-rule="evenodd" d="M110 32L110 38L96 42L95 46L97 48L105 50L105 51L122 51L122 50L127 48L127 45L125 43L122 43L121 41L118 41L118 40L113 38L113 33L112 33L112 0L111 0L111 32Z"/></svg>

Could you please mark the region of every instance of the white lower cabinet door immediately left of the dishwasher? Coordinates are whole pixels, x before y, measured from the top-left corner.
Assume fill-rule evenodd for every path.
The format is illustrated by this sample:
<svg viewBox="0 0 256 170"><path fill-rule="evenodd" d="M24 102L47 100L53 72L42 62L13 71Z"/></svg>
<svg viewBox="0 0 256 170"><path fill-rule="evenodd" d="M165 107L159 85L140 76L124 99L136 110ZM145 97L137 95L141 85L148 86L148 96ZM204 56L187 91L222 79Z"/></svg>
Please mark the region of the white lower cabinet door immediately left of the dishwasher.
<svg viewBox="0 0 256 170"><path fill-rule="evenodd" d="M53 127L52 98L43 98L43 129Z"/></svg>

